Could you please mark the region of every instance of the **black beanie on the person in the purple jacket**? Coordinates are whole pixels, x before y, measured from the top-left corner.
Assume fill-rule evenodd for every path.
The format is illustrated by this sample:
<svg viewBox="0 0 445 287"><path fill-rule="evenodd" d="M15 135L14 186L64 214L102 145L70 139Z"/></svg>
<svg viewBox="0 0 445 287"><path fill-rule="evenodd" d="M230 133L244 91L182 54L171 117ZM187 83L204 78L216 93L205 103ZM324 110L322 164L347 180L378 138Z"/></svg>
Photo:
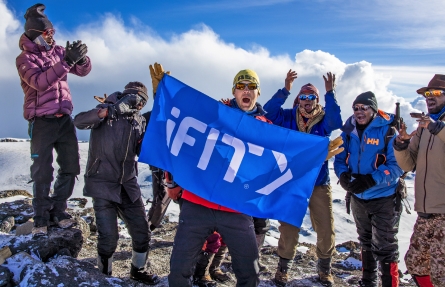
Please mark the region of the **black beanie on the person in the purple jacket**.
<svg viewBox="0 0 445 287"><path fill-rule="evenodd" d="M45 10L45 5L37 3L26 10L25 13L25 35L29 39L34 41L35 38L40 36L43 31L47 29L53 29L53 24L48 20L43 11ZM32 30L33 29L33 30ZM35 31L38 30L38 31ZM42 32L39 32L42 31Z"/></svg>

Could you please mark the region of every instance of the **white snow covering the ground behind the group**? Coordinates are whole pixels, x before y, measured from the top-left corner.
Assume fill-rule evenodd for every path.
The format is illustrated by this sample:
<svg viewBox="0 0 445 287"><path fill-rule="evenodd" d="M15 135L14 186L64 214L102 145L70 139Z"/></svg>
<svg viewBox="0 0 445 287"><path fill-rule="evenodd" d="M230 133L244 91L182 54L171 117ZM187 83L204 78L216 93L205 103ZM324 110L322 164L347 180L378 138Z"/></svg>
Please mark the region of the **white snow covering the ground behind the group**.
<svg viewBox="0 0 445 287"><path fill-rule="evenodd" d="M88 157L88 143L80 142L80 166L81 173L78 176L79 181L76 182L72 197L83 197L82 189L84 185L83 173L85 171L86 161ZM56 158L56 154L54 154ZM29 142L0 142L0 186L1 190L9 189L24 189L32 194L32 183L30 181L29 167L31 165L30 159L30 145ZM141 186L142 194L145 199L152 198L151 192L151 171L148 165L139 163L139 177L138 182ZM54 177L57 175L57 163L54 160ZM334 224L336 232L336 243L343 243L349 240L357 240L357 232L355 228L354 218L346 213L345 208L345 191L341 188L338 182L338 178L335 176L332 161L330 162L330 176L332 185L332 199L333 212L334 212ZM54 182L53 182L54 183ZM414 180L413 177L409 177L406 180L408 186L408 201L411 208L414 207ZM14 199L16 200L16 199ZM1 203L0 199L0 203ZM88 198L87 207L90 207L91 199ZM146 209L150 208L150 204L147 204ZM173 222L178 221L179 206L175 203L171 203L166 215L169 216L169 220ZM400 266L402 272L405 272L406 266L403 260L405 253L409 246L409 239L412 234L412 229L416 220L417 214L411 210L411 214L407 214L405 211L402 213L399 228L399 251L400 251ZM272 228L266 237L266 245L277 246L279 238L279 223L276 220L271 220ZM128 235L121 234L126 237ZM303 220L303 225L300 232L300 242L316 243L316 233L312 229L309 212L306 213L306 217Z"/></svg>

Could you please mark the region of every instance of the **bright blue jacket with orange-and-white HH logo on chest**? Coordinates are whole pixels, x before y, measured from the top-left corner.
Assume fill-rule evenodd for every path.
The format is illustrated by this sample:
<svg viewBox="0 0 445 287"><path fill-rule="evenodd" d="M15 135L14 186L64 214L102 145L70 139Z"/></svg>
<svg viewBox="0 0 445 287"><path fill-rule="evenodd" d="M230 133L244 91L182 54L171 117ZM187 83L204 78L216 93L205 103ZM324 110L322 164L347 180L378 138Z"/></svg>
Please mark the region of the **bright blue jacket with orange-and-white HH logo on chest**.
<svg viewBox="0 0 445 287"><path fill-rule="evenodd" d="M378 115L366 127L360 140L355 127L355 119L351 116L343 126L342 138L345 150L335 156L334 171L340 178L343 172L372 174L376 185L360 194L361 199L387 197L395 193L398 178L403 171L398 166L392 148L393 137L385 152L385 136L394 119L393 115L379 111ZM377 166L377 157L384 155L386 161Z"/></svg>

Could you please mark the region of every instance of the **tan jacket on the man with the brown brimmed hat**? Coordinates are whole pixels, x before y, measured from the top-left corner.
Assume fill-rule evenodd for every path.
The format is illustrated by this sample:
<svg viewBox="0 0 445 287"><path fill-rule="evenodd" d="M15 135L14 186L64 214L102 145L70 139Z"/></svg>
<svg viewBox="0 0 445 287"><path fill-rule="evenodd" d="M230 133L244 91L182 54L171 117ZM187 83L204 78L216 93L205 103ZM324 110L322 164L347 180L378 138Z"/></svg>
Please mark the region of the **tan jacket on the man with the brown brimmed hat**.
<svg viewBox="0 0 445 287"><path fill-rule="evenodd" d="M442 114L439 120L444 117ZM445 129L433 135L418 128L408 148L394 153L403 170L416 169L414 210L445 214Z"/></svg>

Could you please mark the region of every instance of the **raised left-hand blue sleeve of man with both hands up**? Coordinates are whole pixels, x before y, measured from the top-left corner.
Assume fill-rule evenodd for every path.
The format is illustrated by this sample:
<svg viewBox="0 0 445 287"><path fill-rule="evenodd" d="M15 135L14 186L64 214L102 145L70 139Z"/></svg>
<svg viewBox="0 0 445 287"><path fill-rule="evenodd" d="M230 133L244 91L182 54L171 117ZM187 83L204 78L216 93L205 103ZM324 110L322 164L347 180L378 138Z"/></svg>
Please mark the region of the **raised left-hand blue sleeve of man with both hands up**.
<svg viewBox="0 0 445 287"><path fill-rule="evenodd" d="M282 88L264 105L264 110L267 112L266 118L273 124L285 126L285 123L290 123L292 119L292 109L283 109L281 107L289 95L289 91Z"/></svg>

